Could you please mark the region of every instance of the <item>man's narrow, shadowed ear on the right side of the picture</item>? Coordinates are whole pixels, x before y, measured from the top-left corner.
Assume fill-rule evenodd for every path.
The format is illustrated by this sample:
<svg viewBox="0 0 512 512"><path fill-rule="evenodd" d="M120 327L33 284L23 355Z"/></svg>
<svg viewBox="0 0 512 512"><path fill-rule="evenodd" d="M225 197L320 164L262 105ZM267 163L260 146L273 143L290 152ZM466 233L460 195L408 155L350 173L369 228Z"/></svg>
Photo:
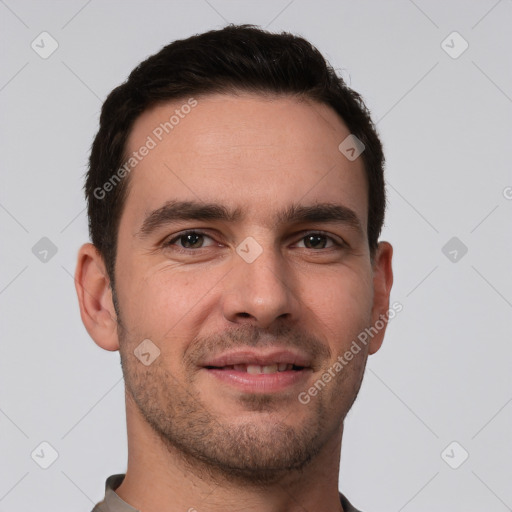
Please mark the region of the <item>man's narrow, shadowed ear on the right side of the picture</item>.
<svg viewBox="0 0 512 512"><path fill-rule="evenodd" d="M389 295L391 293L391 287L393 286L393 270L391 268L392 257L393 247L391 244L388 242L380 242L373 263L372 326L376 328L377 333L370 341L369 354L377 352L384 341L389 315ZM379 326L381 326L381 328L378 328Z"/></svg>

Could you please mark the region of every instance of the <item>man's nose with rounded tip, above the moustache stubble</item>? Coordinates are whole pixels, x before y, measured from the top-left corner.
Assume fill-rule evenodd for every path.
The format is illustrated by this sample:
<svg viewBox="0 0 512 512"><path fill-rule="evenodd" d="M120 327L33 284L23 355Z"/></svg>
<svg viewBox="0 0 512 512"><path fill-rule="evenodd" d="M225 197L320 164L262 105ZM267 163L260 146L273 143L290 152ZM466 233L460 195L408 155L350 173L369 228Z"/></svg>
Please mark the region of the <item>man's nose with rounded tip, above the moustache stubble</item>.
<svg viewBox="0 0 512 512"><path fill-rule="evenodd" d="M226 280L223 311L228 321L267 328L299 317L296 283L276 251L265 248L252 263L235 254Z"/></svg>

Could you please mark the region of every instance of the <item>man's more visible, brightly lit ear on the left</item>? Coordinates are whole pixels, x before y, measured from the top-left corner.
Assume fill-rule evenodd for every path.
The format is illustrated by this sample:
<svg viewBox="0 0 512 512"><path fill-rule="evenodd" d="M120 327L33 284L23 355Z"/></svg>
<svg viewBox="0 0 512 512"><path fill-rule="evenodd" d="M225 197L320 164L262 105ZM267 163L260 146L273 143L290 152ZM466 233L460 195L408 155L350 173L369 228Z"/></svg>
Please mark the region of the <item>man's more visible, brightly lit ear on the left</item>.
<svg viewBox="0 0 512 512"><path fill-rule="evenodd" d="M93 244L80 247L75 271L80 316L91 338L105 350L118 350L117 317L103 257Z"/></svg>

